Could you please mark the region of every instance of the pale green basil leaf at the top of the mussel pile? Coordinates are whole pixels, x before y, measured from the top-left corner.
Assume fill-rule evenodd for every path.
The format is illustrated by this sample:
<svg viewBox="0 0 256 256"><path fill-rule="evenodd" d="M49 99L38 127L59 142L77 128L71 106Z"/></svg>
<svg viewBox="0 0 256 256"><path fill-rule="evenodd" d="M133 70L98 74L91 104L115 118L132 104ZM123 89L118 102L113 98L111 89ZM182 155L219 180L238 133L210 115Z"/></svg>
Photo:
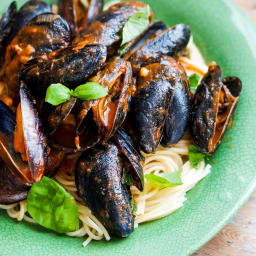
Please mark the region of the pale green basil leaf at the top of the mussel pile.
<svg viewBox="0 0 256 256"><path fill-rule="evenodd" d="M150 7L147 5L132 15L124 25L121 46L139 36L149 25Z"/></svg>

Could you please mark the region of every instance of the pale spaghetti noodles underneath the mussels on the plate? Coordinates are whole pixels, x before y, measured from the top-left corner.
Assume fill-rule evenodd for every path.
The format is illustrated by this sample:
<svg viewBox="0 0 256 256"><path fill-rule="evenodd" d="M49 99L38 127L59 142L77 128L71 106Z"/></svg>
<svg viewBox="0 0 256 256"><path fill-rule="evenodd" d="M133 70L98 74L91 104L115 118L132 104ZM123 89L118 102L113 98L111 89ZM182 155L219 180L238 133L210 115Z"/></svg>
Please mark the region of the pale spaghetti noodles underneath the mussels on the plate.
<svg viewBox="0 0 256 256"><path fill-rule="evenodd" d="M191 41L189 44L191 58L181 57L179 60L184 64L188 74L196 72L203 75L207 67L203 62L198 49ZM210 172L210 165L204 162L199 164L198 169L192 168L188 161L188 145L191 144L189 135L186 135L177 145L169 148L159 146L152 154L144 154L144 174L158 174L162 172L173 172L182 168L182 185L171 188L160 188L145 180L144 191L140 192L136 187L131 187L132 196L136 202L135 226L140 223L162 218L183 206L186 200L186 192L193 188L201 179ZM80 229L67 233L68 236L87 237L83 246L92 240L105 238L110 240L110 235L105 227L92 214L91 210L84 204L77 194L72 170L65 170L55 176L56 181L63 186L75 199L78 205ZM35 223L29 216L26 201L11 205L0 205L11 218L18 221L25 220Z"/></svg>

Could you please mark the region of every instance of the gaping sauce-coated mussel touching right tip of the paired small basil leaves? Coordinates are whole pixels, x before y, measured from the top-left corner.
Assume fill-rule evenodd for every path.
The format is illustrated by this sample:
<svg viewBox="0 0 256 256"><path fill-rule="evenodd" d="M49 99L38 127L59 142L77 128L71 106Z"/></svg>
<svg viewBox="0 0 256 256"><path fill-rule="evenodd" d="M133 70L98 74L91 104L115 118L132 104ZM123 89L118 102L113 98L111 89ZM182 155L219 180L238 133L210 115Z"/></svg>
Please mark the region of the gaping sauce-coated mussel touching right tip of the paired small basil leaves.
<svg viewBox="0 0 256 256"><path fill-rule="evenodd" d="M135 90L131 65L124 60L110 62L92 80L109 87L108 95L92 107L103 140L108 141L122 125L129 110Z"/></svg>

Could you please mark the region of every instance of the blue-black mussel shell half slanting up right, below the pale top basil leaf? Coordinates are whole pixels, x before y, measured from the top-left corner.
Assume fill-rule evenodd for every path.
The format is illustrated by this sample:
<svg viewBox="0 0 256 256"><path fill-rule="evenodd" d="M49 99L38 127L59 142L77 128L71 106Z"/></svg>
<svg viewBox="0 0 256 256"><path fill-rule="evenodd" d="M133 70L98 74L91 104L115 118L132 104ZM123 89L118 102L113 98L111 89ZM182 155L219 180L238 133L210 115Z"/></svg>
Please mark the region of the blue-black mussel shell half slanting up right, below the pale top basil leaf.
<svg viewBox="0 0 256 256"><path fill-rule="evenodd" d="M184 24L173 26L155 37L146 41L131 55L133 71L138 72L140 67L160 62L164 56L176 57L182 52L190 39L190 28Z"/></svg>

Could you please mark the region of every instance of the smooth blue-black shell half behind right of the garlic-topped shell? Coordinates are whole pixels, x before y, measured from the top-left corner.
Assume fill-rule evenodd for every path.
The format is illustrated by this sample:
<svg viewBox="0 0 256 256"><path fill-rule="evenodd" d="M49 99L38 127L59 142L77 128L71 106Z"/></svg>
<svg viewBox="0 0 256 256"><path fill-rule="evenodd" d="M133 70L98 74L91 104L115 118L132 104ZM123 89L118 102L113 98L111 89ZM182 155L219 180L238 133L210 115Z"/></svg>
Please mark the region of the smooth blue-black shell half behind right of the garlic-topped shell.
<svg viewBox="0 0 256 256"><path fill-rule="evenodd" d="M184 136L190 118L189 80L181 64L172 58L163 61L173 68L175 91L170 102L161 144L177 144Z"/></svg>

